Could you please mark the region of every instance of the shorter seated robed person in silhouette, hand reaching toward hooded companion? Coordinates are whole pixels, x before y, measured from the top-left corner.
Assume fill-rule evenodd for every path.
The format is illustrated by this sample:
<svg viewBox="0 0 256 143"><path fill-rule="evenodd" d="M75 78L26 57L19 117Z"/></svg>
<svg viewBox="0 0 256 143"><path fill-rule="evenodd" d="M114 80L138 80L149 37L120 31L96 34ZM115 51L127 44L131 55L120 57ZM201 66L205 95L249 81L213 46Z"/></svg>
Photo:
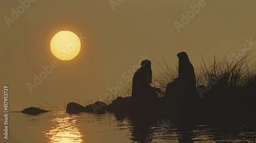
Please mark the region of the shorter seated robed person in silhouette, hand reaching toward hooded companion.
<svg viewBox="0 0 256 143"><path fill-rule="evenodd" d="M152 111L153 103L157 100L158 93L161 93L161 90L151 87L151 83L151 62L150 60L144 60L133 76L131 114Z"/></svg>

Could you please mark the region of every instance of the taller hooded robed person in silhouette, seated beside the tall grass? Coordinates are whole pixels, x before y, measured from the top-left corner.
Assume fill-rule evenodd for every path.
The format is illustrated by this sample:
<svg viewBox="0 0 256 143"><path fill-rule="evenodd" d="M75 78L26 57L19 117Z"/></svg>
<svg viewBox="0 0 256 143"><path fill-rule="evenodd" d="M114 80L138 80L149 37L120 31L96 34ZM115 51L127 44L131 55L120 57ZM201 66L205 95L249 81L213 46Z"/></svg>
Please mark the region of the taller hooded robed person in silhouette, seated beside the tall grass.
<svg viewBox="0 0 256 143"><path fill-rule="evenodd" d="M167 84L164 102L170 116L180 119L188 111L190 101L193 100L196 89L196 77L193 65L187 53L180 52L178 77Z"/></svg>

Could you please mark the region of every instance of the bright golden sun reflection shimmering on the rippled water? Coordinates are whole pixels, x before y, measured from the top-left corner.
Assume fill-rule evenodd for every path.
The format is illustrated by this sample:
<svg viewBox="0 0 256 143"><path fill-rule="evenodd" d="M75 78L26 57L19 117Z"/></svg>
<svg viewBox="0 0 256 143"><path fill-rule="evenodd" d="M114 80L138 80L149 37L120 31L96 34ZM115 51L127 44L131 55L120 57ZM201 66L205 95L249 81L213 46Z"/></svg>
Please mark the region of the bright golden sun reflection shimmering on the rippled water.
<svg viewBox="0 0 256 143"><path fill-rule="evenodd" d="M55 118L51 121L55 124L55 126L52 127L48 133L46 133L46 136L50 139L49 142L83 142L79 128L76 127L76 115Z"/></svg>

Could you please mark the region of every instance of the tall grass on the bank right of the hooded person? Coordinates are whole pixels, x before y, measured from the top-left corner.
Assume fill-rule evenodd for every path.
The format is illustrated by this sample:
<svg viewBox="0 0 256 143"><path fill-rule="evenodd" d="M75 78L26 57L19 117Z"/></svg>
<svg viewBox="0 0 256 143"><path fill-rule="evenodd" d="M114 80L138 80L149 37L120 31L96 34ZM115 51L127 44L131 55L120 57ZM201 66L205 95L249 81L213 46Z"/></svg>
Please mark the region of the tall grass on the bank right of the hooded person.
<svg viewBox="0 0 256 143"><path fill-rule="evenodd" d="M240 49L242 50L244 46ZM240 51L239 50L239 51ZM238 53L239 53L238 51ZM253 58L250 57L254 50L248 50L244 55L239 56L238 53L230 60L227 58L228 53L223 59L218 60L219 56L206 67L205 61L202 56L203 65L201 65L199 72L197 72L197 85L208 85L212 80L217 81L215 84L221 84L224 87L239 88L246 85L248 76L253 71L248 71L251 67L248 63L251 63ZM252 65L255 66L255 65Z"/></svg>

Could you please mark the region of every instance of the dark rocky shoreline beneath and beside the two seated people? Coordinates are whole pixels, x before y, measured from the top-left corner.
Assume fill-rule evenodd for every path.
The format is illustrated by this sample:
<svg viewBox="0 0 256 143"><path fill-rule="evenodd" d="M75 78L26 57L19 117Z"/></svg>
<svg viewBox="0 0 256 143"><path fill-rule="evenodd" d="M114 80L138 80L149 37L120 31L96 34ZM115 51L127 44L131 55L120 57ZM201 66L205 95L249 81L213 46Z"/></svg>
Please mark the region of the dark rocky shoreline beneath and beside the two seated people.
<svg viewBox="0 0 256 143"><path fill-rule="evenodd" d="M212 92L216 93L216 91ZM224 92L222 94L219 94L217 97L215 94L209 93L207 97L193 101L193 104L191 104L192 106L190 107L190 112L188 113L188 115L186 115L186 118L193 117L194 119L224 120L232 117L242 117L245 119L250 117L256 117L256 105L254 104L254 101L256 101L256 97L254 95L255 93L255 89L250 90L247 93L241 93L236 91ZM197 93L195 93L195 95L197 95ZM158 97L158 99L162 100L163 98ZM109 111L117 115L131 115L130 106L131 97L117 97L116 100L113 101L113 103L106 106L91 104L86 106L88 110L86 110L86 107L83 107L82 105L71 102L67 106L67 113L104 113L105 111ZM149 111L141 112L140 115L146 116L146 112ZM172 119L172 114L169 113L168 109L165 109L164 106L161 106L161 104L159 106L156 106L154 110L150 112L152 112L152 114L154 114L155 116L165 116Z"/></svg>

